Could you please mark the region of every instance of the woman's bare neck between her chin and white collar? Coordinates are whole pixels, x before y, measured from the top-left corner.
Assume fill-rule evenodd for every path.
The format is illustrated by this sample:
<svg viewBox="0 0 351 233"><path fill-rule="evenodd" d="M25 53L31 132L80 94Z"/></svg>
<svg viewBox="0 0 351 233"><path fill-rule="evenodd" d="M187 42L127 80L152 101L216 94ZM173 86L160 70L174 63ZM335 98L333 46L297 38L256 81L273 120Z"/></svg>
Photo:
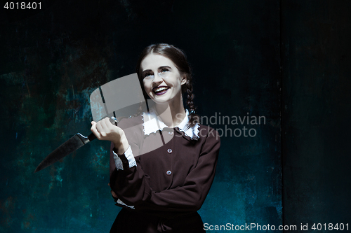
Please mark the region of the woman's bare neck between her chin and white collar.
<svg viewBox="0 0 351 233"><path fill-rule="evenodd" d="M180 95L179 101L171 101L162 104L156 104L157 113L162 122L168 127L177 127L187 115L183 106L183 97Z"/></svg>

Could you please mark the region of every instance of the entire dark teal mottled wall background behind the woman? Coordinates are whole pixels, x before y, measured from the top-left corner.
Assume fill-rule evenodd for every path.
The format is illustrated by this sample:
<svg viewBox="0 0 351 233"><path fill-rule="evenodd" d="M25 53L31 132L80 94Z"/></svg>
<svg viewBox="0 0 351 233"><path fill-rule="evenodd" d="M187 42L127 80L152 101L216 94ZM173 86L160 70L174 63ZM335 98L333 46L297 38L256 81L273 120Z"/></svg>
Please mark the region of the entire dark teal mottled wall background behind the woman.
<svg viewBox="0 0 351 233"><path fill-rule="evenodd" d="M350 1L41 3L1 6L0 232L109 232L110 143L33 172L90 133L91 92L134 73L151 43L187 53L199 115L265 116L211 125L224 135L204 223L350 221ZM225 131L244 126L256 136Z"/></svg>

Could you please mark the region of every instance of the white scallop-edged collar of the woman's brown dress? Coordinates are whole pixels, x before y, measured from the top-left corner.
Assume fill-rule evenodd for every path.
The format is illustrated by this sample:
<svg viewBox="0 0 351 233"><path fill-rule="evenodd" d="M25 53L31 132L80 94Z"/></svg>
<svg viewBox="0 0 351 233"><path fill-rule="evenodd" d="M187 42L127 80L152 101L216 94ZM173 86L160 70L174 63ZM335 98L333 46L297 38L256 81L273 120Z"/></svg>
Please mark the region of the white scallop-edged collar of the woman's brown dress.
<svg viewBox="0 0 351 233"><path fill-rule="evenodd" d="M192 140L199 139L199 124L196 123L194 127L187 129L187 122L189 122L189 111L185 110L186 115L182 122L177 126L178 129L186 136L189 136ZM164 122L162 122L161 118L157 116L156 111L153 108L150 108L149 113L143 113L143 131L145 135L149 135L151 133L156 133L159 129L164 129L168 127Z"/></svg>

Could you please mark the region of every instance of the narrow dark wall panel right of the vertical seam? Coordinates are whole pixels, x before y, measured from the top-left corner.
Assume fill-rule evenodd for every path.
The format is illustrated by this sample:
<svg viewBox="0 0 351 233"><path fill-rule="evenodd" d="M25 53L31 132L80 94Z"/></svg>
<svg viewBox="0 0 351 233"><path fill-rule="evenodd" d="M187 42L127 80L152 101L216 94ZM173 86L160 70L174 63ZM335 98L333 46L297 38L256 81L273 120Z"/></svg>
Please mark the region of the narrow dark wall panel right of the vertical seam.
<svg viewBox="0 0 351 233"><path fill-rule="evenodd" d="M350 11L350 1L282 1L286 224L350 230Z"/></svg>

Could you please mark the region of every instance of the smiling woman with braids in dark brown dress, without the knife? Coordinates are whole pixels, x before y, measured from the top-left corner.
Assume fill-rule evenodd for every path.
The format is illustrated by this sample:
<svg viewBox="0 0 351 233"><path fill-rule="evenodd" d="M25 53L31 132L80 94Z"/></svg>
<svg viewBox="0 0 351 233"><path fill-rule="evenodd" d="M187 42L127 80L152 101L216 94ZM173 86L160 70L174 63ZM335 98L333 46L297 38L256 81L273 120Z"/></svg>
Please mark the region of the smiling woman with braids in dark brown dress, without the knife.
<svg viewBox="0 0 351 233"><path fill-rule="evenodd" d="M205 232L197 211L213 182L220 139L198 122L185 54L173 45L150 45L137 73L154 103L149 111L118 127L109 118L91 127L98 139L112 141L110 186L123 209L110 232Z"/></svg>

